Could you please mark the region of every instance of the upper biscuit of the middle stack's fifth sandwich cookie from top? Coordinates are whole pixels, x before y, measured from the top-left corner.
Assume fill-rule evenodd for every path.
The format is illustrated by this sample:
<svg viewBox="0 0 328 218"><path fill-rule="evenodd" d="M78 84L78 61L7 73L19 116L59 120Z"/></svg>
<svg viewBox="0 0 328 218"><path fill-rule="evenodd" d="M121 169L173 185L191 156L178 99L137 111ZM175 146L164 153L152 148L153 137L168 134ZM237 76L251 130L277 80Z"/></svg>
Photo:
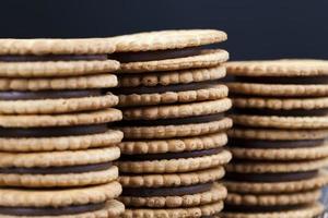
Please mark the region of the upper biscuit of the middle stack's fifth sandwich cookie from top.
<svg viewBox="0 0 328 218"><path fill-rule="evenodd" d="M169 187L214 182L225 174L223 167L179 173L125 174L119 182L124 187Z"/></svg>

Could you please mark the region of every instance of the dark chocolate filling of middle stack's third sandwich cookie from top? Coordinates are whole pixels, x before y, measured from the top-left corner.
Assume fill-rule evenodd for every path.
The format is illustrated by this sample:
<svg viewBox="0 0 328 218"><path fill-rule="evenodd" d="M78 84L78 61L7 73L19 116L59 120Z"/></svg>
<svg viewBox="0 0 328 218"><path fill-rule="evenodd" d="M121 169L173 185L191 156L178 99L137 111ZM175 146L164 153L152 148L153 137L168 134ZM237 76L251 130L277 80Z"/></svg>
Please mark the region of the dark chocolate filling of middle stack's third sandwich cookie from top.
<svg viewBox="0 0 328 218"><path fill-rule="evenodd" d="M176 119L159 119L159 120L124 120L118 122L121 126L155 126L155 125L183 125L190 123L207 123L222 120L224 113L215 113L210 116L198 116Z"/></svg>

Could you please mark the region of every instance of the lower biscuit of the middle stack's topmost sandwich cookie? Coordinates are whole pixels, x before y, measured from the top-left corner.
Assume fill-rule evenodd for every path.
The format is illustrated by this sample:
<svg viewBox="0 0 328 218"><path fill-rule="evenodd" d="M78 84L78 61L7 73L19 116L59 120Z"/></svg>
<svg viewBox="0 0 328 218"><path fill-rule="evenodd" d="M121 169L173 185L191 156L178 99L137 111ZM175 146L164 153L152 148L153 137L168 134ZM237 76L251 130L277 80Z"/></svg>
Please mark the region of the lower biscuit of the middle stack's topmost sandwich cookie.
<svg viewBox="0 0 328 218"><path fill-rule="evenodd" d="M229 53L225 50L204 50L201 52L201 55L187 58L121 63L119 73L142 73L154 71L176 71L186 69L212 68L227 61L227 59Z"/></svg>

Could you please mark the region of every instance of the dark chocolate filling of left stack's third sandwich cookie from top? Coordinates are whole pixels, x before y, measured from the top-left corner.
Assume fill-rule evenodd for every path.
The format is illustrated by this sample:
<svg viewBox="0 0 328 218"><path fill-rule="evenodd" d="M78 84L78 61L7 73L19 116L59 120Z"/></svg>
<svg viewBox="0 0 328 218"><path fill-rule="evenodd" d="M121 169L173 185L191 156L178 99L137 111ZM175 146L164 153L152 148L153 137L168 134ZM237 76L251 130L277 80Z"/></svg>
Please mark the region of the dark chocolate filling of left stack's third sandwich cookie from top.
<svg viewBox="0 0 328 218"><path fill-rule="evenodd" d="M56 128L0 128L0 137L56 137L105 133L107 124Z"/></svg>

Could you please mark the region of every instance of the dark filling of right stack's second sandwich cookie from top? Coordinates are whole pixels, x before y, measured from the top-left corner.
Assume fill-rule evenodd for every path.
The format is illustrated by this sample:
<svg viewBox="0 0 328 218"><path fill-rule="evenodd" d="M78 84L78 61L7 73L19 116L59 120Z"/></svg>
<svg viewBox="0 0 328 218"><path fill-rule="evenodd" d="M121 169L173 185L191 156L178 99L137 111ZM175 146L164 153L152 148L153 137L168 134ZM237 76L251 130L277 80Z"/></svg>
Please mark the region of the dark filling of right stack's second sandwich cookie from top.
<svg viewBox="0 0 328 218"><path fill-rule="evenodd" d="M328 116L328 108L324 109L292 109L292 110L273 110L273 109L256 109L256 108L238 108L234 109L237 114L251 116L281 116L281 117L307 117L307 116Z"/></svg>

